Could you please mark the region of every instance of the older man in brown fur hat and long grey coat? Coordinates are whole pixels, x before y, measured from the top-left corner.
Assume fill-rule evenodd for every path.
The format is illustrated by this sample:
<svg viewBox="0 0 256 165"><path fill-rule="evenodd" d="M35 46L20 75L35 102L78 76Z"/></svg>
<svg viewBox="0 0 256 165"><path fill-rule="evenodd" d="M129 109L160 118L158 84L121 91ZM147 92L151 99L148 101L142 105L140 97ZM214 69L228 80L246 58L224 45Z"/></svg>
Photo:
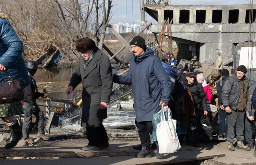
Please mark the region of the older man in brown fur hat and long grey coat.
<svg viewBox="0 0 256 165"><path fill-rule="evenodd" d="M107 118L107 103L113 85L111 64L92 39L79 39L76 49L81 56L66 92L70 95L78 84L83 83L81 126L86 128L89 144L82 149L99 151L109 146L102 121Z"/></svg>

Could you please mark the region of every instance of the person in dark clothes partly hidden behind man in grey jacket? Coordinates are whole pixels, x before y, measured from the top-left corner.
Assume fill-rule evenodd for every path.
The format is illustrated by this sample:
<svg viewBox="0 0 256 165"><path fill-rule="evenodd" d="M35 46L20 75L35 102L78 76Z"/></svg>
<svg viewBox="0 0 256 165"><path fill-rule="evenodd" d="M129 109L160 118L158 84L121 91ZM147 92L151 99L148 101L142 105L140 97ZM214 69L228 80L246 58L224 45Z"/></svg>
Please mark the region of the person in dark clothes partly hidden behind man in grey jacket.
<svg viewBox="0 0 256 165"><path fill-rule="evenodd" d="M224 109L221 92L224 82L229 78L229 71L227 69L221 70L222 79L217 83L217 95L218 95L218 105L219 105L219 115L220 115L220 125L219 125L219 135L218 138L227 140L227 112ZM224 134L225 130L225 134Z"/></svg>

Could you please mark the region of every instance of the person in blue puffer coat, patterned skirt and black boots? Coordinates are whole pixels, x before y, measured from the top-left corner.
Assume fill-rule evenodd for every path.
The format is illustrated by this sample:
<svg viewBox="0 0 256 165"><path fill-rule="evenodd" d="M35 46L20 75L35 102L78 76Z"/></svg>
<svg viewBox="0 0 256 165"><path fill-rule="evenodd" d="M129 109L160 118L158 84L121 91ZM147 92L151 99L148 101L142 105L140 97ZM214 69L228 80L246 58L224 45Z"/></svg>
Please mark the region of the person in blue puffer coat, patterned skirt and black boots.
<svg viewBox="0 0 256 165"><path fill-rule="evenodd" d="M6 18L6 14L0 11L0 83L9 81L6 73L8 71L12 79L22 80L20 86L23 89L29 84L29 76L22 56L23 43ZM0 103L0 118L11 131L5 149L15 147L22 138L20 124L15 117L20 114L23 114L21 101Z"/></svg>

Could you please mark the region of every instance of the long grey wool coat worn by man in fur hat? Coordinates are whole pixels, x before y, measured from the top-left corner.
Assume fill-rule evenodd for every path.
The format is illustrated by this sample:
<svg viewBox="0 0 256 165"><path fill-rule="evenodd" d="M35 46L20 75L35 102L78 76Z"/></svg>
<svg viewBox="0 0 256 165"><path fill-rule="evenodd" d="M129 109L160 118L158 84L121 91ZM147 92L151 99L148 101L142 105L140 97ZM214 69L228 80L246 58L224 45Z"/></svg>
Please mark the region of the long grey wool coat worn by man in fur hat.
<svg viewBox="0 0 256 165"><path fill-rule="evenodd" d="M83 83L83 109L81 127L99 127L107 118L107 109L100 109L100 102L108 103L111 96L113 78L108 56L98 47L94 48L92 61L84 70L86 62L82 56L73 73L69 86L75 87Z"/></svg>

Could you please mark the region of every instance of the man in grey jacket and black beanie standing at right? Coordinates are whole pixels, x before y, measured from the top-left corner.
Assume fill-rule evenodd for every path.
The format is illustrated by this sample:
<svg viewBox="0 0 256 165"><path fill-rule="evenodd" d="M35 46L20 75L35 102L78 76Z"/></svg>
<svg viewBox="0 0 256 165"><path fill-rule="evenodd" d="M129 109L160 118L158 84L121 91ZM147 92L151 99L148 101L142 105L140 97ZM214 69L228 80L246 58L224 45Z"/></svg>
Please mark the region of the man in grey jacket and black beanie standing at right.
<svg viewBox="0 0 256 165"><path fill-rule="evenodd" d="M228 150L235 151L233 141L237 142L237 149L249 151L250 147L244 145L244 109L247 103L248 79L245 76L247 68L240 65L236 69L236 74L230 76L222 87L221 99L227 115L227 141ZM236 129L236 130L235 130Z"/></svg>

